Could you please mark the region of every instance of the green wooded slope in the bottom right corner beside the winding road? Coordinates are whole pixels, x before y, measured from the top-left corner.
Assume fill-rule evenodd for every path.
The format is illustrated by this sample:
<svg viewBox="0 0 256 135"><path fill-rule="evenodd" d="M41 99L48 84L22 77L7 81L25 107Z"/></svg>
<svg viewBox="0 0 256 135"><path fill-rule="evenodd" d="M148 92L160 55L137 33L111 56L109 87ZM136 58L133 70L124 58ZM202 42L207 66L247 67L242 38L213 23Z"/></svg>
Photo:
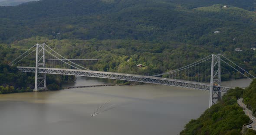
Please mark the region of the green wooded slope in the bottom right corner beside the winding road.
<svg viewBox="0 0 256 135"><path fill-rule="evenodd" d="M238 87L230 89L223 95L222 100L207 109L200 118L192 119L181 135L255 135L256 131L252 129L241 132L243 125L249 123L249 117L236 101L243 96L247 98L247 101L244 101L247 106L255 110L255 90L256 79L245 90Z"/></svg>

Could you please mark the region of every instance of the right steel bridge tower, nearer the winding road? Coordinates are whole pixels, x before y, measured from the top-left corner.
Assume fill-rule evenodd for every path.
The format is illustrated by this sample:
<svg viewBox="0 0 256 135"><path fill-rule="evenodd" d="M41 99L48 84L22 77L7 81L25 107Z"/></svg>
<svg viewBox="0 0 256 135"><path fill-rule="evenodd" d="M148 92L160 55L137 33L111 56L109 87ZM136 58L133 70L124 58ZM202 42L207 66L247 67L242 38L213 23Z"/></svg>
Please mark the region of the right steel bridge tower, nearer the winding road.
<svg viewBox="0 0 256 135"><path fill-rule="evenodd" d="M220 86L221 77L220 77L220 54L212 55L211 63L211 78L210 78L210 101L209 108L221 99L221 91L217 86Z"/></svg>

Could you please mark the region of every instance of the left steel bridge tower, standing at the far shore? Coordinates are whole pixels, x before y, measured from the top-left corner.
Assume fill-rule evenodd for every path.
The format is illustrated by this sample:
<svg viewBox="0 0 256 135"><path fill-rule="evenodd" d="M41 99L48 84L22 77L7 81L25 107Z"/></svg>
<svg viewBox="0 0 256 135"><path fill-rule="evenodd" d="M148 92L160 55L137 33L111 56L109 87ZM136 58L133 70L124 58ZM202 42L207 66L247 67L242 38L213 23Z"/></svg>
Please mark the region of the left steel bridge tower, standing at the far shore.
<svg viewBox="0 0 256 135"><path fill-rule="evenodd" d="M36 74L35 74L35 89L33 91L46 90L46 74L38 73L38 67L46 67L45 65L45 44L36 44Z"/></svg>

